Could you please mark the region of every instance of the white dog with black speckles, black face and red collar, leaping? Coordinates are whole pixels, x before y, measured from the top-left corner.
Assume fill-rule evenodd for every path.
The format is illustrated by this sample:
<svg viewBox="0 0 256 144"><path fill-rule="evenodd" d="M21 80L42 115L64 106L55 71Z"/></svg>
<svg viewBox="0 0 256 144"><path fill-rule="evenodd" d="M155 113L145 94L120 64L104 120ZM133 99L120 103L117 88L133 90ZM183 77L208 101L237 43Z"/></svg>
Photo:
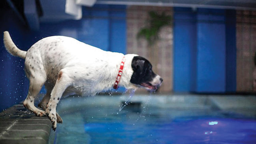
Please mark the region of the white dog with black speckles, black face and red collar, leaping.
<svg viewBox="0 0 256 144"><path fill-rule="evenodd" d="M118 86L157 90L163 81L143 57L103 51L70 37L46 37L28 51L17 48L8 31L4 31L3 41L11 55L25 59L24 70L30 83L23 105L37 116L48 115L54 131L57 123L62 123L56 113L61 97L96 95ZM38 105L40 110L35 107L34 98L43 85L46 94Z"/></svg>

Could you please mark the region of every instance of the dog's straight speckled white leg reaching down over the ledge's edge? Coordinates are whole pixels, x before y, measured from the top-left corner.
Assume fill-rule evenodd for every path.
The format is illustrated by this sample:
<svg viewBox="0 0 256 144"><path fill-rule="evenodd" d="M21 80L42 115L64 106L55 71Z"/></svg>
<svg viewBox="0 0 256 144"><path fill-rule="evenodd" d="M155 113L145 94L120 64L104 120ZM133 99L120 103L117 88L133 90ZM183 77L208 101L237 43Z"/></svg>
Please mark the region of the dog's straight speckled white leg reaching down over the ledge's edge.
<svg viewBox="0 0 256 144"><path fill-rule="evenodd" d="M51 119L53 125L52 128L55 131L57 127L57 117L56 117L56 107L57 104L62 96L62 93L66 90L66 88L71 84L70 78L67 75L65 70L60 70L58 73L58 79L56 81L55 86L51 92L51 97L46 105L46 113L48 114L49 118Z"/></svg>

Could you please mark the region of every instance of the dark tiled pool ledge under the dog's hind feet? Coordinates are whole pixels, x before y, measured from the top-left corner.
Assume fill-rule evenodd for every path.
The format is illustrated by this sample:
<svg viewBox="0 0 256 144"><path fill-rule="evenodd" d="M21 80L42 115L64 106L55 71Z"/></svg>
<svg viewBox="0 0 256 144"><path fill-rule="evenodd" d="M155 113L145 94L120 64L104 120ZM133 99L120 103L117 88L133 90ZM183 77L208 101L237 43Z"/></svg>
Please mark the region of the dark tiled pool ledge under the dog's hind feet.
<svg viewBox="0 0 256 144"><path fill-rule="evenodd" d="M38 117L22 104L0 113L1 144L47 144L52 123L48 117Z"/></svg>

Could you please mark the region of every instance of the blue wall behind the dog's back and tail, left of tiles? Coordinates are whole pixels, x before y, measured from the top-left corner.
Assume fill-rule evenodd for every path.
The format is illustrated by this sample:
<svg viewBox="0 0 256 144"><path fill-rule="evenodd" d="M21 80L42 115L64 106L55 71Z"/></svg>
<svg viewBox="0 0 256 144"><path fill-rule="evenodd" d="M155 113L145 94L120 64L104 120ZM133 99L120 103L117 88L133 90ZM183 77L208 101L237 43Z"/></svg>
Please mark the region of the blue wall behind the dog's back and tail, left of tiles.
<svg viewBox="0 0 256 144"><path fill-rule="evenodd" d="M44 37L65 35L106 51L126 53L126 6L123 5L84 7L81 20L40 23L39 31L30 31L21 25L8 6L3 6L0 15L0 32L8 30L14 43L23 50ZM29 84L23 69L24 60L11 56L2 39L0 34L0 110L24 100Z"/></svg>

